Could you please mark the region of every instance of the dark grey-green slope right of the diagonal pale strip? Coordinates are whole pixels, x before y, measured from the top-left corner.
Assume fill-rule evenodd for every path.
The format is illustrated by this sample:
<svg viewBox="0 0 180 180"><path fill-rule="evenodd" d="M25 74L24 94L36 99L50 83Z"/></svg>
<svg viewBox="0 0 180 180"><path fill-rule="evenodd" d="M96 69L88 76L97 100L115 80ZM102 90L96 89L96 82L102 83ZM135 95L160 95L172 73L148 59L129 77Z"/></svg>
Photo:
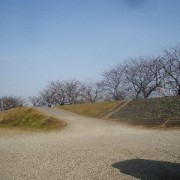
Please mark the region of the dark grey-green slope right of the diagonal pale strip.
<svg viewBox="0 0 180 180"><path fill-rule="evenodd" d="M138 125L163 125L168 121L180 126L180 97L133 100L110 118Z"/></svg>

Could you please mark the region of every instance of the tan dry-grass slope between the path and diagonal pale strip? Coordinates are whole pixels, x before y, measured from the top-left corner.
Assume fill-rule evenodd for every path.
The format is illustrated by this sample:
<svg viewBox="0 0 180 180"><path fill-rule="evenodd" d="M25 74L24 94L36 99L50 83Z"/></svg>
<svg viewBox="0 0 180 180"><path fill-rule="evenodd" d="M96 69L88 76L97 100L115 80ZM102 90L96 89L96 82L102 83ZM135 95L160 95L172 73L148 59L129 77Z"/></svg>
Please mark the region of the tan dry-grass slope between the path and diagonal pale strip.
<svg viewBox="0 0 180 180"><path fill-rule="evenodd" d="M85 103L76 105L59 106L59 108L75 112L88 117L102 117L113 108L117 107L121 101Z"/></svg>

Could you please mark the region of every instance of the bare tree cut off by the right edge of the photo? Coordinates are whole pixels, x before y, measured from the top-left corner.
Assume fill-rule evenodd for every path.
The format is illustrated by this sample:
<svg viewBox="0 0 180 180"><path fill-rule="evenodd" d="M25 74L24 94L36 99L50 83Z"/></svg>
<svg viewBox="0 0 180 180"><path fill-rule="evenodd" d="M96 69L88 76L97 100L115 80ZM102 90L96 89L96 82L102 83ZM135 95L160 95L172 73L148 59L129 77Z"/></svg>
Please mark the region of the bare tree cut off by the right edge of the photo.
<svg viewBox="0 0 180 180"><path fill-rule="evenodd" d="M163 59L167 84L174 94L180 95L180 46L164 50Z"/></svg>

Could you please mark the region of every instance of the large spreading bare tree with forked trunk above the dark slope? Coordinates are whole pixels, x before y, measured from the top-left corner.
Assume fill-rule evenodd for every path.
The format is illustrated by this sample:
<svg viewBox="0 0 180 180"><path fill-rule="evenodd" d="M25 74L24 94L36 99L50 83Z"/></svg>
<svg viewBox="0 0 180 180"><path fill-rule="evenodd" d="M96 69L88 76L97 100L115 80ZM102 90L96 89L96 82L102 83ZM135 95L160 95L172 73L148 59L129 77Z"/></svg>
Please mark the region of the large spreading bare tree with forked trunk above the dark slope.
<svg viewBox="0 0 180 180"><path fill-rule="evenodd" d="M140 57L126 63L126 78L132 85L135 98L148 98L162 86L161 58Z"/></svg>

